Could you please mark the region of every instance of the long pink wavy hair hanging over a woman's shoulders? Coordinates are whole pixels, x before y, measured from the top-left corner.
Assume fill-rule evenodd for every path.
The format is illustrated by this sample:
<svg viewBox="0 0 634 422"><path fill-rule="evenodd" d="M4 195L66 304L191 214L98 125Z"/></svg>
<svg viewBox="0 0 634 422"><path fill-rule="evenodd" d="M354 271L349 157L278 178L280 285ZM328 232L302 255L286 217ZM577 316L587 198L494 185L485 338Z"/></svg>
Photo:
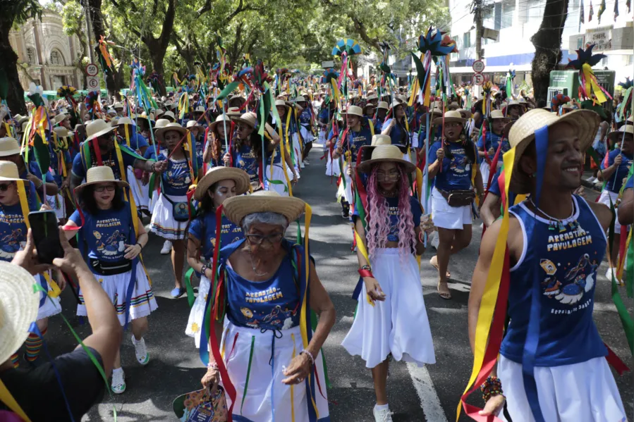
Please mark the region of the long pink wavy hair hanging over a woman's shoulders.
<svg viewBox="0 0 634 422"><path fill-rule="evenodd" d="M416 235L414 232L414 217L410 204L408 177L403 166L397 164L398 173L398 254L403 259L414 252ZM367 224L367 249L370 257L377 253L377 249L384 248L390 232L390 221L387 200L379 194L377 187L377 173L379 166L374 166L367 182L368 210L365 215Z"/></svg>

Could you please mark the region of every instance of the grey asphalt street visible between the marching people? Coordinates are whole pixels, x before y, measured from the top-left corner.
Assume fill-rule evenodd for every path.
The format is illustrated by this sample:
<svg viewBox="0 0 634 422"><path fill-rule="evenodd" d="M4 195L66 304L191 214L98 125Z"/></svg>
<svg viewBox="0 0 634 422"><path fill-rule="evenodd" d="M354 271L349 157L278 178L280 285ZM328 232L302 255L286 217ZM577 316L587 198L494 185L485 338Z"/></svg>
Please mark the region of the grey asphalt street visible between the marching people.
<svg viewBox="0 0 634 422"><path fill-rule="evenodd" d="M324 352L327 356L332 387L328 397L331 421L372 421L374 390L370 370L359 357L351 357L341 347L341 341L353 321L355 302L350 296L357 282L357 259L350 251L352 232L349 223L341 218L341 206L335 201L336 180L324 175L324 161L319 161L321 148L310 154L310 166L301 173L301 180L293 189L295 196L312 206L310 228L311 251L317 262L317 273L328 290L337 311L336 324L331 331ZM595 192L590 192L594 199ZM467 301L470 279L480 246L480 221L473 225L470 246L453 256L450 263L450 283L453 299L441 299L436 292L437 275L429 265L434 249L422 256L421 283L425 305L434 339L437 363L425 368L410 367L393 362L388 380L388 395L394 421L444 422L456 420L456 407L470 376L472 355L468 345ZM124 335L121 349L128 390L123 395L107 397L95 406L83 421L112 421L116 408L118 421L176 421L171 410L173 399L184 392L197 390L205 373L194 340L185 335L189 307L187 299L171 299L173 288L171 262L159 254L163 240L150 235L144 251L152 278L152 287L159 309L150 316L150 332L145 341L150 352L150 364L136 363L130 333ZM633 367L626 337L610 297L610 285L604 277L606 264L599 269L595 299L595 321L604 341ZM512 282L512 280L511 280ZM623 292L624 296L624 292ZM64 315L80 336L90 328L80 324L75 316L75 299L66 290L62 294ZM633 301L626 299L633 311ZM61 318L51 318L48 345L52 354L71 351L75 342ZM632 373L616 378L621 397L634 420L634 383ZM473 395L474 404L482 399ZM467 421L465 416L461 421ZM286 422L286 421L284 421Z"/></svg>

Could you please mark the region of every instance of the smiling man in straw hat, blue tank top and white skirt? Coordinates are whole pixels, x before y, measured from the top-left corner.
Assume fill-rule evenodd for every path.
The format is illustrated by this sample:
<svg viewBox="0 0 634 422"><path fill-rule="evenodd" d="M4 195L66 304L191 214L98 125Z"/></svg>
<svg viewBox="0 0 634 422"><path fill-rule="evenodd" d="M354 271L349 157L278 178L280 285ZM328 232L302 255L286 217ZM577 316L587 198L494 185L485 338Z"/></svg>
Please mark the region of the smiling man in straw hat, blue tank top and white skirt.
<svg viewBox="0 0 634 422"><path fill-rule="evenodd" d="M513 421L627 418L592 321L611 212L571 194L580 186L583 151L598 127L594 111L559 117L535 109L511 128L515 154L513 168L505 168L511 172L509 188L530 199L509 209L508 222L496 221L484 233L473 273L468 311L472 348L482 347L484 340L476 330L480 302L489 293L485 285L492 257L504 254L496 250L503 237L511 261L511 323L497 367L482 386L483 416L499 414L506 396Z"/></svg>

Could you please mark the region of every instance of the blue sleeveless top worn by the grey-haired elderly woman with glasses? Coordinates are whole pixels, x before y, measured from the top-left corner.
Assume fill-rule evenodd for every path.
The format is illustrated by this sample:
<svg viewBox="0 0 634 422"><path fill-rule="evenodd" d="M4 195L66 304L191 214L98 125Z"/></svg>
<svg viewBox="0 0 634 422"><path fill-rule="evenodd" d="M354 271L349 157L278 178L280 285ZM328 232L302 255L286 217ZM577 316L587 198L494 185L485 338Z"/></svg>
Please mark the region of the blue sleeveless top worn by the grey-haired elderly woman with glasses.
<svg viewBox="0 0 634 422"><path fill-rule="evenodd" d="M235 248L235 244L232 246ZM290 242L284 242L284 247L290 248ZM258 330L286 330L299 325L300 283L295 279L290 253L272 278L257 283L245 280L228 266L225 268L226 316L231 323Z"/></svg>

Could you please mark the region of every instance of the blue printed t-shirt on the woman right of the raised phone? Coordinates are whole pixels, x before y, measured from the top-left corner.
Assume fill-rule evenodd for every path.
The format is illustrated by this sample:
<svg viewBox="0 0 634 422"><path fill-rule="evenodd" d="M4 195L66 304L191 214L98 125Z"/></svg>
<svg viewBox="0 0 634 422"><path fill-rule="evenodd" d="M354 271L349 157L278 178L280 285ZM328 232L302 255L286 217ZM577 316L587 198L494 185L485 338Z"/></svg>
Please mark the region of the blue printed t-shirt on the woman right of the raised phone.
<svg viewBox="0 0 634 422"><path fill-rule="evenodd" d="M130 244L130 233L133 232L130 204L125 203L121 209L100 209L95 215L84 211L84 224L80 228L85 245L79 245L80 250L86 248L89 258L99 261L123 261L126 254L126 244ZM71 221L82 225L81 216L75 210Z"/></svg>

